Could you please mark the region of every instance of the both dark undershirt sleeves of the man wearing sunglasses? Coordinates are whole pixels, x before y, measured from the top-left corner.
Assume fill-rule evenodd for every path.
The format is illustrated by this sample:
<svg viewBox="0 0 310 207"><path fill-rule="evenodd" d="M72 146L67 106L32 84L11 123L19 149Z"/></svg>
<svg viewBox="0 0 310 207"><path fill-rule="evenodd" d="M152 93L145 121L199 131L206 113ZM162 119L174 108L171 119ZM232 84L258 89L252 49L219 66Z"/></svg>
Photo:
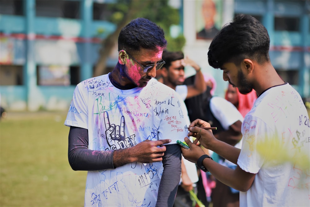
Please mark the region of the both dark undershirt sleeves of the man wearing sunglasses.
<svg viewBox="0 0 310 207"><path fill-rule="evenodd" d="M88 130L70 127L68 159L73 170L114 169L113 150L88 149ZM162 160L164 171L160 181L156 206L170 207L174 203L181 174L181 150L178 144L166 145Z"/></svg>

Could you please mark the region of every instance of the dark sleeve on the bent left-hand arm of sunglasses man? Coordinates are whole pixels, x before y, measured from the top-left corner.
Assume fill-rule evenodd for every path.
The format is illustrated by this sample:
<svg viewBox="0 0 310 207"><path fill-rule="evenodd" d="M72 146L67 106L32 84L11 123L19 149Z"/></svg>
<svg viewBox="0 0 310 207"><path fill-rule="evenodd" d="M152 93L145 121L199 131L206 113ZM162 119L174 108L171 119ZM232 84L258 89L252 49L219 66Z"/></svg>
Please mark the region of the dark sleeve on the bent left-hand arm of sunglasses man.
<svg viewBox="0 0 310 207"><path fill-rule="evenodd" d="M89 150L88 130L79 127L70 127L68 159L73 170L114 169L113 152L113 150Z"/></svg>

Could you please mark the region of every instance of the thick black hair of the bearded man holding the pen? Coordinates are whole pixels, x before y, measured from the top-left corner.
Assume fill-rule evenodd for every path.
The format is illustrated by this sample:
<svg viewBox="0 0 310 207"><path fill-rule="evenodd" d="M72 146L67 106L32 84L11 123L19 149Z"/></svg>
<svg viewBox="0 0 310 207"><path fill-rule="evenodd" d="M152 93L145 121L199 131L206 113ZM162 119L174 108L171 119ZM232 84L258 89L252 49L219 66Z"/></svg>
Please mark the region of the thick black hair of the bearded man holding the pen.
<svg viewBox="0 0 310 207"><path fill-rule="evenodd" d="M269 46L267 29L253 16L237 14L213 38L208 62L213 68L221 68L227 62L238 65L246 58L263 63L270 61Z"/></svg>

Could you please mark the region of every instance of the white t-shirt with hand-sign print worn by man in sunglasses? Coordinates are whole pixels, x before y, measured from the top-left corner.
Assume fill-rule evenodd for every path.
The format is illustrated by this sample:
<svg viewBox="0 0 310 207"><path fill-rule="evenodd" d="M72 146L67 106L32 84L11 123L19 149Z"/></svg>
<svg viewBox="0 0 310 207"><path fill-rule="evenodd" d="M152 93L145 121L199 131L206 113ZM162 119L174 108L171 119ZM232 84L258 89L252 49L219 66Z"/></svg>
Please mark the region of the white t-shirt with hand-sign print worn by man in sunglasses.
<svg viewBox="0 0 310 207"><path fill-rule="evenodd" d="M79 83L65 125L88 129L88 148L129 148L145 140L184 140L188 119L175 90L151 79L144 88L120 90L108 74ZM88 171L85 206L155 206L162 162L129 163Z"/></svg>

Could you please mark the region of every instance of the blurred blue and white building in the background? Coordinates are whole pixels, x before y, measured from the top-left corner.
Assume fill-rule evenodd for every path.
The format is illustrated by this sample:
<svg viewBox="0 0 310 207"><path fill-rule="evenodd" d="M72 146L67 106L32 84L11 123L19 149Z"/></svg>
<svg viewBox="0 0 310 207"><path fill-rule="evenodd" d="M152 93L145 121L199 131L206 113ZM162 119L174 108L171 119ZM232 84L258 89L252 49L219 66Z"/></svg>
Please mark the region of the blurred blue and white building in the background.
<svg viewBox="0 0 310 207"><path fill-rule="evenodd" d="M220 83L222 73L207 65L211 39L197 39L201 1L179 2L178 31L184 53ZM268 29L270 56L280 76L309 97L309 1L214 0L217 26L237 13L255 16ZM0 93L7 110L68 110L77 83L90 78L100 42L115 30L107 21L114 0L0 0ZM107 66L114 67L117 50ZM190 73L190 72L189 72ZM218 95L226 83L218 84Z"/></svg>

